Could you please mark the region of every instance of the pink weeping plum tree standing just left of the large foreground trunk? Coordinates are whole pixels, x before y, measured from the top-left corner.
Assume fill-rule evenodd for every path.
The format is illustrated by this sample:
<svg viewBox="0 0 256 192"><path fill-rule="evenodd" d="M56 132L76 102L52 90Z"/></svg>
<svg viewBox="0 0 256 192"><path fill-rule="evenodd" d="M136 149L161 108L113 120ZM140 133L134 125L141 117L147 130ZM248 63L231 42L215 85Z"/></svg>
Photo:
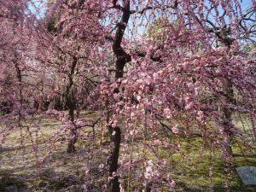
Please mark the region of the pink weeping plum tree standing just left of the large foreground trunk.
<svg viewBox="0 0 256 192"><path fill-rule="evenodd" d="M96 34L90 35L88 33L88 36L85 36L85 32L78 34L77 28L69 27L70 20L76 20L84 15L78 9L79 6L82 4L63 2L61 5L57 2L51 7L49 6L49 13L46 15L48 30L54 41L53 47L57 61L52 61L52 63L57 64L54 65L58 68L59 75L65 79L65 87L61 92L65 98L69 119L73 122L67 148L68 153L75 151L74 145L77 140L77 126L74 124L75 110L79 111L79 103L81 108L84 107L84 102L90 95L90 91L97 84L97 73L90 73L90 70L99 63L96 59L98 53ZM71 11L71 15L62 15L62 13L69 13L69 11ZM91 27L91 29L98 27L96 12L88 12L87 14L89 19L84 20L84 23L80 25Z"/></svg>

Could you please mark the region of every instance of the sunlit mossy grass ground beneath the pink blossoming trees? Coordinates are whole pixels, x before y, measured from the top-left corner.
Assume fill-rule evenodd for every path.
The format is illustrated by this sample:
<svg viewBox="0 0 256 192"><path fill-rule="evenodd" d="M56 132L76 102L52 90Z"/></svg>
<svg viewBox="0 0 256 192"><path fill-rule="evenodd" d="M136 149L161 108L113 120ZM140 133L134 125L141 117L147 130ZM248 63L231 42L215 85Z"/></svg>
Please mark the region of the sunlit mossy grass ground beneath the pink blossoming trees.
<svg viewBox="0 0 256 192"><path fill-rule="evenodd" d="M88 113L82 113L82 116L88 116ZM89 114L91 119L96 119L97 113ZM246 120L246 119L245 119ZM33 146L29 132L24 128L23 144L20 145L20 130L12 131L0 148L0 191L83 191L84 183L86 183L89 191L102 191L100 186L106 183L106 170L99 172L98 166L106 163L108 157L108 141L106 137L102 140L100 137L101 127L96 128L96 140L80 139L77 143L77 151L74 154L67 154L67 136L62 135L55 140L55 145L50 146L47 141L49 137L60 129L61 123L53 119L40 119L36 117L34 121L38 121L40 129L36 128L31 122L30 132L33 142L38 143L38 160L41 164L36 164L36 157L33 153ZM242 127L241 120L235 119L236 125L241 130L248 130L249 124ZM243 124L245 125L245 124ZM0 127L1 129L1 127ZM84 129L83 133L91 134L90 129ZM251 138L251 133L247 133L247 137ZM252 137L253 138L253 137ZM166 172L170 172L175 180L176 187L174 189L165 189L165 191L187 191L187 192L205 192L209 191L210 178L210 151L208 144L204 145L204 140L200 135L189 137L178 137L181 143L181 152L171 152L169 149L160 148L160 158L168 161ZM142 145L136 140L137 148L134 156L139 156ZM177 142L177 137L172 137L172 142ZM54 148L55 146L55 148ZM100 148L101 146L101 148ZM201 150L203 148L203 153ZM54 148L49 156L49 148ZM240 140L235 140L233 144L234 166L255 166L255 152L245 148ZM122 153L121 153L122 154ZM152 154L148 151L148 158ZM47 156L47 158L44 158ZM212 159L213 163L213 183L214 191L222 192L224 189L224 160L222 152L219 148L214 150ZM40 167L38 167L40 166ZM92 167L88 170L88 166ZM133 169L136 173L136 168ZM255 187L241 187L241 179L236 171L231 175L230 187L232 191L256 191ZM89 179L90 178L90 179ZM136 177L131 178L131 187L141 184L137 182Z"/></svg>

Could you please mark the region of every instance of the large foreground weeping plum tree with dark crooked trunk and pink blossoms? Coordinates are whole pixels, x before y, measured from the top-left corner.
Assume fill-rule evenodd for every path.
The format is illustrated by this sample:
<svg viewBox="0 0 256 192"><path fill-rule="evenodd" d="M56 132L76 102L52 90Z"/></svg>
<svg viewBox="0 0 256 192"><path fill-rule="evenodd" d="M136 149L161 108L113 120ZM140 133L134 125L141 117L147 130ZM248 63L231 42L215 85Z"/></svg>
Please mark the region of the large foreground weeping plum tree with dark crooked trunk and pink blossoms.
<svg viewBox="0 0 256 192"><path fill-rule="evenodd" d="M247 7L239 1L58 3L81 13L79 17L73 12L63 15L68 22L65 29L72 29L85 41L96 36L99 43L96 46L112 46L116 57L114 78L102 84L101 90L102 101L106 100L104 103L112 111L108 129L113 148L108 163L113 191L120 190L117 174L120 116L125 117L122 125L129 125L125 131L130 129L132 133L132 137L129 134L126 137L128 143L135 137L133 131L137 132L138 119L145 117L145 122L140 123L148 124L157 135L154 129L159 125L177 132L177 125L165 125L163 119L185 115L186 132L193 126L189 122L198 125L201 135L211 137L212 143L223 148L225 170L231 172L232 137L243 138L232 124L231 114L236 111L254 117L255 78L248 71L255 63L247 61L241 51L243 44L255 37L253 2ZM99 20L93 30L90 30L89 23L93 20L90 15ZM162 40L143 36L141 31L161 17L165 18L165 27L160 29ZM213 102L204 101L204 95ZM241 97L242 104L236 103L235 95ZM145 113L150 113L149 122ZM208 128L209 119L216 123L213 130ZM228 183L229 179L227 189Z"/></svg>

